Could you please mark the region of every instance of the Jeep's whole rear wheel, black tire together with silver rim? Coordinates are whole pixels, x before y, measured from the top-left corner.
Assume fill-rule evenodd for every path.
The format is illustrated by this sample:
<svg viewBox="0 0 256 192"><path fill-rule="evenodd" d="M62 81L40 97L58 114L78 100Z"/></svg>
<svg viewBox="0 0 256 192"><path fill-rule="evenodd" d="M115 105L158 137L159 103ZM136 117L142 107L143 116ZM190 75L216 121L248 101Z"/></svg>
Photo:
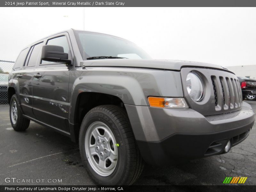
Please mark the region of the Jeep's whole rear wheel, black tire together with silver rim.
<svg viewBox="0 0 256 192"><path fill-rule="evenodd" d="M22 116L16 94L12 95L10 101L10 120L12 128L15 131L24 131L28 129L30 120Z"/></svg>

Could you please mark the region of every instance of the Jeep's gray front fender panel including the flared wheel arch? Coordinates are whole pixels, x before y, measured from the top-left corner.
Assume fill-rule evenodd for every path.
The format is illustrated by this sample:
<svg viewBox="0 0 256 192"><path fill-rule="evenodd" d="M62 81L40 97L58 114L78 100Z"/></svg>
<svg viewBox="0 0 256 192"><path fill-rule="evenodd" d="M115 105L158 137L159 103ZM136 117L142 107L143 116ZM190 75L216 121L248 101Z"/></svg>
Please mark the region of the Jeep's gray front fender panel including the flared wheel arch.
<svg viewBox="0 0 256 192"><path fill-rule="evenodd" d="M148 96L182 97L180 72L142 68L86 68L69 78L69 120L74 123L78 95L98 92L116 96L125 105L148 106Z"/></svg>

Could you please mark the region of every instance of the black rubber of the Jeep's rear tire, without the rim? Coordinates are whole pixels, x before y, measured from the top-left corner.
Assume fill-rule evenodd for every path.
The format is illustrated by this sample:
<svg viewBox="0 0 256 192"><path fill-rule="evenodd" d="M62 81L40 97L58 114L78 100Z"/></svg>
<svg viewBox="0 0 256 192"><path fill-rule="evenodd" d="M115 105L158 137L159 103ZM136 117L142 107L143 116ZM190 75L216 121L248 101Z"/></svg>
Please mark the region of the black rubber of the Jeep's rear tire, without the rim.
<svg viewBox="0 0 256 192"><path fill-rule="evenodd" d="M14 122L12 120L12 114L11 114L12 113L11 108L12 108L12 104L14 102L16 103L16 108L17 108L16 122ZM30 120L22 116L20 106L19 106L19 101L17 99L16 94L12 95L12 98L11 98L11 101L10 101L10 110L9 110L9 112L10 112L10 120L11 120L12 128L15 131L25 131L26 129L28 129Z"/></svg>

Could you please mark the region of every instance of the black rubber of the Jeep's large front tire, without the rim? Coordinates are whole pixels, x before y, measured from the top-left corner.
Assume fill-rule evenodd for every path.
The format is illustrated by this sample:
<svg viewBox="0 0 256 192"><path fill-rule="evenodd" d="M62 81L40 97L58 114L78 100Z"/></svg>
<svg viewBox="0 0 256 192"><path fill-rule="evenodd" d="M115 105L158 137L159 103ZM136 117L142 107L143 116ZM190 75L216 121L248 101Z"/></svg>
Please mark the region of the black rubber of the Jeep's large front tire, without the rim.
<svg viewBox="0 0 256 192"><path fill-rule="evenodd" d="M108 176L95 172L86 157L85 135L88 127L94 122L106 124L119 144L116 167ZM122 108L114 105L95 107L84 116L79 133L79 148L87 172L98 185L131 185L139 178L144 167L127 114Z"/></svg>

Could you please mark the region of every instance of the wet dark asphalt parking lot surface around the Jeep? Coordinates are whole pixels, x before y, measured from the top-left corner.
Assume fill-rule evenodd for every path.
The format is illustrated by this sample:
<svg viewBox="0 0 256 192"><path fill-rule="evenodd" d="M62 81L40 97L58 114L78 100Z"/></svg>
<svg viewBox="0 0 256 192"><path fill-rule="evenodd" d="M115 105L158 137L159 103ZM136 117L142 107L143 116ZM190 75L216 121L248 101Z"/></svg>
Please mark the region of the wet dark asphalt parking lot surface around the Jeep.
<svg viewBox="0 0 256 192"><path fill-rule="evenodd" d="M246 102L256 111L256 101ZM9 105L0 105L0 122L0 185L93 185L81 163L78 145L68 137L34 122L25 132L15 132L9 119ZM244 185L256 185L255 128L254 124L248 138L227 154L178 165L146 165L134 184L222 185L225 177L239 176L248 177ZM40 182L5 182L5 178Z"/></svg>

